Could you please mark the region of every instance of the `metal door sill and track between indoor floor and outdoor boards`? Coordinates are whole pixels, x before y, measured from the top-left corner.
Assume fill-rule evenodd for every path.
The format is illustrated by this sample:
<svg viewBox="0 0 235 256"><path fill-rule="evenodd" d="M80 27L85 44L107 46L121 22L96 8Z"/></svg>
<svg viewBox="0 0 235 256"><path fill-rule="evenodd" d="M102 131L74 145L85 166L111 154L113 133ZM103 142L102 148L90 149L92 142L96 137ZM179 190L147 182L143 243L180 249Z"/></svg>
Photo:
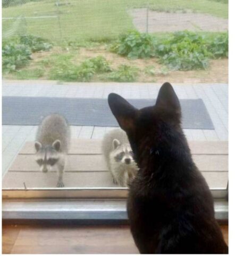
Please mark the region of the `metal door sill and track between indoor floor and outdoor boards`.
<svg viewBox="0 0 235 256"><path fill-rule="evenodd" d="M228 187L211 192L217 221L228 223ZM128 188L3 189L2 218L10 223L124 224L128 223L127 196Z"/></svg>

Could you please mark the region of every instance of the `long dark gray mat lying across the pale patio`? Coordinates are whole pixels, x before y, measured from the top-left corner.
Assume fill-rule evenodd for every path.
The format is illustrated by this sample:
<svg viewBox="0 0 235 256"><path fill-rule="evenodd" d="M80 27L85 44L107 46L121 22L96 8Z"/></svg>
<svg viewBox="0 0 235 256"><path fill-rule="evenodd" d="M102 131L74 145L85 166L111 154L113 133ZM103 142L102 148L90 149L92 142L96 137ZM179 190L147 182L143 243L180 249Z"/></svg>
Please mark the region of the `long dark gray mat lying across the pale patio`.
<svg viewBox="0 0 235 256"><path fill-rule="evenodd" d="M130 99L136 108L153 106L156 99ZM202 99L180 100L183 129L214 130ZM46 115L58 113L71 125L119 126L108 107L107 99L3 97L3 125L38 125Z"/></svg>

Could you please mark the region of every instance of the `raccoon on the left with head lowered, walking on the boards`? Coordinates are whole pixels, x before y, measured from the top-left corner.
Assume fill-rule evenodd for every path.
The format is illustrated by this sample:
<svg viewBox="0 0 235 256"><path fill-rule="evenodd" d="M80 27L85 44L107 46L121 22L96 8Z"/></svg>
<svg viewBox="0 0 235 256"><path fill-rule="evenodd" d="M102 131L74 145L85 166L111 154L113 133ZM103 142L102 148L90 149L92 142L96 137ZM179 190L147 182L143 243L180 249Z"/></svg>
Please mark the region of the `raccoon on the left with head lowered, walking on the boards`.
<svg viewBox="0 0 235 256"><path fill-rule="evenodd" d="M69 145L70 126L66 119L58 114L46 116L38 127L35 159L44 173L56 166L57 187L64 187L63 173Z"/></svg>

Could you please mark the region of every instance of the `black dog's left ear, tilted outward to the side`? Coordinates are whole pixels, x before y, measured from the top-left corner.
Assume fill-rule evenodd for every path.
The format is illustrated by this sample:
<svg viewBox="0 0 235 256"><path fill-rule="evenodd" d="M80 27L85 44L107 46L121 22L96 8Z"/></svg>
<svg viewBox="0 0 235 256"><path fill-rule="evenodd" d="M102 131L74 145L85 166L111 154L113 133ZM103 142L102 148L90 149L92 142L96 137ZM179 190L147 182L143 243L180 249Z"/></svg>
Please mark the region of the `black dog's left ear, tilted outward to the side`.
<svg viewBox="0 0 235 256"><path fill-rule="evenodd" d="M116 93L108 95L108 105L120 127L124 131L132 130L138 110Z"/></svg>

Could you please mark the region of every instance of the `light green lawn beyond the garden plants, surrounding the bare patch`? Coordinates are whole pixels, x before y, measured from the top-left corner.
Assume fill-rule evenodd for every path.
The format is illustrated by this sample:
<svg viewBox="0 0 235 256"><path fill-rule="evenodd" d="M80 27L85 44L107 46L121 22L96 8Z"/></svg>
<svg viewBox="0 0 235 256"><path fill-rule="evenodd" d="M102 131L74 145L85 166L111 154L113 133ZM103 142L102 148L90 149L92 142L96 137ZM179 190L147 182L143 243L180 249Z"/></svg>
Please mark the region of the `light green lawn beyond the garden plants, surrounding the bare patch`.
<svg viewBox="0 0 235 256"><path fill-rule="evenodd" d="M63 0L61 0L63 2ZM132 19L127 13L134 7L146 7L144 0L68 0L69 5L55 6L54 0L29 2L23 5L2 9L5 17L55 16L57 18L3 20L3 35L13 32L38 35L51 42L61 41L111 41L118 35L133 29ZM149 0L152 10L190 9L208 13L217 17L228 18L228 4L211 0ZM61 24L61 35L60 25Z"/></svg>

